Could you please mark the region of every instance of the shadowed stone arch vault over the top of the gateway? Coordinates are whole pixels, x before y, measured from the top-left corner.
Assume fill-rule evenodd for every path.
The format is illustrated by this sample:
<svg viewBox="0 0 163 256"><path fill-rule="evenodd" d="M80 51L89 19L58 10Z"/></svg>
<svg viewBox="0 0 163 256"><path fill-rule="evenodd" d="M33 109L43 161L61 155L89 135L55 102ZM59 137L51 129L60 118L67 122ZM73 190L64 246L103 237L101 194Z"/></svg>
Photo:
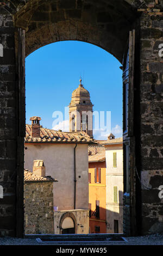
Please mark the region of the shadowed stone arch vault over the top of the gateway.
<svg viewBox="0 0 163 256"><path fill-rule="evenodd" d="M15 14L15 25L26 33L26 56L52 42L78 40L103 48L122 63L136 17L126 1L29 0Z"/></svg>

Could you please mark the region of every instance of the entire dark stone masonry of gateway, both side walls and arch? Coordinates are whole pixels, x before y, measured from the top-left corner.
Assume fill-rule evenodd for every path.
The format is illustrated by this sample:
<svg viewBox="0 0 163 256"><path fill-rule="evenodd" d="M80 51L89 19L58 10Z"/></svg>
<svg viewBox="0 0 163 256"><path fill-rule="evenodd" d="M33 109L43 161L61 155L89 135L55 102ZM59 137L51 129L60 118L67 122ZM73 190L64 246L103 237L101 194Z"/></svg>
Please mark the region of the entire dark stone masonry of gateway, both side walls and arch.
<svg viewBox="0 0 163 256"><path fill-rule="evenodd" d="M91 42L122 63L130 29L139 31L135 68L135 123L139 233L163 230L162 0L11 0L0 2L0 235L23 236L23 132L17 68L17 27L26 31L26 55L60 40ZM139 132L138 132L139 131ZM22 169L22 172L20 170ZM21 176L22 175L22 176ZM137 179L137 182L139 180ZM22 200L23 201L23 200ZM136 234L136 231L135 231Z"/></svg>

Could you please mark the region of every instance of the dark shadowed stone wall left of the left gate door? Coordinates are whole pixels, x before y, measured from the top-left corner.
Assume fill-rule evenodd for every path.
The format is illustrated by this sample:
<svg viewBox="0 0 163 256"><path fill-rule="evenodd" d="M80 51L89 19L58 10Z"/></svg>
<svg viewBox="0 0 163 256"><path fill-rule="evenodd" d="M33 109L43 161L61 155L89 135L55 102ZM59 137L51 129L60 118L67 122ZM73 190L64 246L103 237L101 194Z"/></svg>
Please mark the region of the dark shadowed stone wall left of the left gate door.
<svg viewBox="0 0 163 256"><path fill-rule="evenodd" d="M16 74L13 16L0 6L0 236L16 235Z"/></svg>

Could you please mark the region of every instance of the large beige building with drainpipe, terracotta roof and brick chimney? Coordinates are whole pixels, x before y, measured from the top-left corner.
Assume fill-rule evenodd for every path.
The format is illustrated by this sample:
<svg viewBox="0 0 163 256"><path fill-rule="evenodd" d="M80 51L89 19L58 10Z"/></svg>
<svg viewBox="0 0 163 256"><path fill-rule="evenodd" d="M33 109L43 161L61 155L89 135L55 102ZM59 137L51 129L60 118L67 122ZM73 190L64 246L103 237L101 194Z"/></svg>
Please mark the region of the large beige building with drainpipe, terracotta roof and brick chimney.
<svg viewBox="0 0 163 256"><path fill-rule="evenodd" d="M39 117L33 117L30 120L32 125L26 125L24 168L30 170L34 160L43 159L46 176L50 175L59 181L53 190L54 222L58 220L54 233L62 233L57 216L61 218L61 215L71 210L76 210L73 223L83 226L80 228L80 233L89 233L87 148L93 139L84 131L61 132L44 129L40 126ZM87 212L86 215L85 212ZM84 221L81 222L78 215L83 216ZM79 231L76 227L75 230ZM67 232L70 231L67 230Z"/></svg>

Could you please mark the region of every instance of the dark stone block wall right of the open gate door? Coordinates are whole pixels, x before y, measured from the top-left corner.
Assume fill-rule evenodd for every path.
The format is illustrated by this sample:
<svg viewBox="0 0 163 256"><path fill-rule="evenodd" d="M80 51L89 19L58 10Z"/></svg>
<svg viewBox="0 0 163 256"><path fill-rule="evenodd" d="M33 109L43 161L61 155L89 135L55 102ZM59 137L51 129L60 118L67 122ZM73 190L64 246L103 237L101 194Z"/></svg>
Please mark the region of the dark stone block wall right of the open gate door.
<svg viewBox="0 0 163 256"><path fill-rule="evenodd" d="M142 180L142 229L163 231L163 17L160 11L142 12L140 22L140 131Z"/></svg>

